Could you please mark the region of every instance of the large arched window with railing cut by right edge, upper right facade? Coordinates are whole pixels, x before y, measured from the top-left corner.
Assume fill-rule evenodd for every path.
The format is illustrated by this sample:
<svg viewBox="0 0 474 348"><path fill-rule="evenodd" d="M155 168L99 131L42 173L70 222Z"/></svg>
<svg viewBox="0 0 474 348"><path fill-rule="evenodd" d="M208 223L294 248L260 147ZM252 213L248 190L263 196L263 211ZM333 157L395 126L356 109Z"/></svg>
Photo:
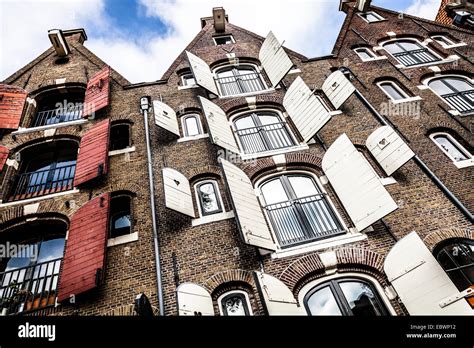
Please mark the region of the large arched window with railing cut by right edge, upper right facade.
<svg viewBox="0 0 474 348"><path fill-rule="evenodd" d="M432 79L428 86L460 113L474 111L474 85L464 76L443 76Z"/></svg>

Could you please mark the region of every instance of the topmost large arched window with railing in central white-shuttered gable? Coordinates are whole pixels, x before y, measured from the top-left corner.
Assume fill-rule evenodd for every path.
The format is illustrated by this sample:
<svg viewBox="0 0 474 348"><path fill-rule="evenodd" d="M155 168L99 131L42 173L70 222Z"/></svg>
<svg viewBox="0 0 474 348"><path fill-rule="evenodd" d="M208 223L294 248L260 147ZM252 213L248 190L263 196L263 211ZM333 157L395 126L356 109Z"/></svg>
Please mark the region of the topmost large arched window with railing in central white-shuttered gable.
<svg viewBox="0 0 474 348"><path fill-rule="evenodd" d="M228 66L216 70L216 82L222 96L251 93L266 87L252 65Z"/></svg>

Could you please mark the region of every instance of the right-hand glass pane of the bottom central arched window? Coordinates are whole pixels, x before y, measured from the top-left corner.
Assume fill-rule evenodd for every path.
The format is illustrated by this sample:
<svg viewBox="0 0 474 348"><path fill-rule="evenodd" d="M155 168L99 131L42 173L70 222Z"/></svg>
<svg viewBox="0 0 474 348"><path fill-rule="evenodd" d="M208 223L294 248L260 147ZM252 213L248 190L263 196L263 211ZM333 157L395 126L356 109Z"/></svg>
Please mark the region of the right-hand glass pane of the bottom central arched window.
<svg viewBox="0 0 474 348"><path fill-rule="evenodd" d="M363 282L350 281L339 283L341 290L355 316L384 315L371 287Z"/></svg>

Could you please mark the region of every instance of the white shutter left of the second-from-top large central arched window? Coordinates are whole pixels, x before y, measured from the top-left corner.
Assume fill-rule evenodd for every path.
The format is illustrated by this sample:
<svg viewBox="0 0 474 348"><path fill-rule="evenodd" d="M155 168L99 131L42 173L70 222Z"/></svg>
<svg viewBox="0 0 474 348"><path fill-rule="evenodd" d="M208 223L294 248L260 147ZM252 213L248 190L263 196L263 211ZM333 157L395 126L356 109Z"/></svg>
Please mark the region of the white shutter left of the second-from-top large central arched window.
<svg viewBox="0 0 474 348"><path fill-rule="evenodd" d="M206 98L200 96L199 100L206 115L212 142L234 153L240 153L224 110Z"/></svg>

